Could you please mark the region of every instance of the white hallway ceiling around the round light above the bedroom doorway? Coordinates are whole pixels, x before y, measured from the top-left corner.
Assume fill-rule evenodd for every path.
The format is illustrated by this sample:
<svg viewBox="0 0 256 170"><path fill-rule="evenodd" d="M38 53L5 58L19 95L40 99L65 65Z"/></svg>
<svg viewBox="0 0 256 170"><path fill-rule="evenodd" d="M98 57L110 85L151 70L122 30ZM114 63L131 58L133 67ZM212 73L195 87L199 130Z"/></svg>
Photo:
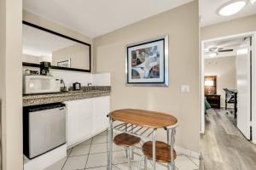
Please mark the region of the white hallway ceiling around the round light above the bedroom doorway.
<svg viewBox="0 0 256 170"><path fill-rule="evenodd" d="M256 3L247 3L247 6L235 15L227 17L218 15L218 8L229 1L230 0L201 0L201 26L209 26L219 22L256 14Z"/></svg>

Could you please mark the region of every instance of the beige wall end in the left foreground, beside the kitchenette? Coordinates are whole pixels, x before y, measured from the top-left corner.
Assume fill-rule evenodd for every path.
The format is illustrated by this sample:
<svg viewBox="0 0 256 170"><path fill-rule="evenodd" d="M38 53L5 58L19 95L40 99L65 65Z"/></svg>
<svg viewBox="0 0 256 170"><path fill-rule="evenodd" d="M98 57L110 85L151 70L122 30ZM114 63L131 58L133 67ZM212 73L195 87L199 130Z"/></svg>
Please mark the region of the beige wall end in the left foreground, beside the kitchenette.
<svg viewBox="0 0 256 170"><path fill-rule="evenodd" d="M0 1L0 99L3 170L23 169L22 152L22 1Z"/></svg>

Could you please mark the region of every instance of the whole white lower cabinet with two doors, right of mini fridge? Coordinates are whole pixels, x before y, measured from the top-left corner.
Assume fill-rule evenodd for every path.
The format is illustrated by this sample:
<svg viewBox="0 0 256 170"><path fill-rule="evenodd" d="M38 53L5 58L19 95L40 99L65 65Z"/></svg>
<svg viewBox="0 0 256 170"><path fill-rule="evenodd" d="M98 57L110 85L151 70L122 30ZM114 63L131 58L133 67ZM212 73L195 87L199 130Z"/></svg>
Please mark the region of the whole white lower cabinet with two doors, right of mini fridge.
<svg viewBox="0 0 256 170"><path fill-rule="evenodd" d="M65 102L67 147L89 139L108 127L109 96Z"/></svg>

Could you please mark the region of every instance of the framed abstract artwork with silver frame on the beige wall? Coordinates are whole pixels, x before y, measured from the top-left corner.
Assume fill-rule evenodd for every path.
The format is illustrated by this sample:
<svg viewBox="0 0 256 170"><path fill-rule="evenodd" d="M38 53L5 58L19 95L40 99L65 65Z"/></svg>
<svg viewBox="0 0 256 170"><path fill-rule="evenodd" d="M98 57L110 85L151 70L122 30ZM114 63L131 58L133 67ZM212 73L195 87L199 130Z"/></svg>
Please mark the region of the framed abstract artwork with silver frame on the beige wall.
<svg viewBox="0 0 256 170"><path fill-rule="evenodd" d="M127 86L168 86L168 36L129 44Z"/></svg>

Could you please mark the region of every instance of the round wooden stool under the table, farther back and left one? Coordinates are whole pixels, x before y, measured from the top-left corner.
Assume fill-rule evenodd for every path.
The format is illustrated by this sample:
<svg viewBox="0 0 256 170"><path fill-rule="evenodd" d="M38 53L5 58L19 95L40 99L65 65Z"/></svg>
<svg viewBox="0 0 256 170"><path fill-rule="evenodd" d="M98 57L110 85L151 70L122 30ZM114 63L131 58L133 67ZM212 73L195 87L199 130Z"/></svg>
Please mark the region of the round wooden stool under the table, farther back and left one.
<svg viewBox="0 0 256 170"><path fill-rule="evenodd" d="M128 160L128 164L129 164L130 169L131 169L131 151L130 151L130 148L135 146L136 144L139 144L140 141L141 141L140 138L138 138L136 136L133 136L131 134L127 134L127 133L120 133L120 134L116 135L113 139L114 144L125 147L125 152L126 152L126 156L127 156L127 160Z"/></svg>

